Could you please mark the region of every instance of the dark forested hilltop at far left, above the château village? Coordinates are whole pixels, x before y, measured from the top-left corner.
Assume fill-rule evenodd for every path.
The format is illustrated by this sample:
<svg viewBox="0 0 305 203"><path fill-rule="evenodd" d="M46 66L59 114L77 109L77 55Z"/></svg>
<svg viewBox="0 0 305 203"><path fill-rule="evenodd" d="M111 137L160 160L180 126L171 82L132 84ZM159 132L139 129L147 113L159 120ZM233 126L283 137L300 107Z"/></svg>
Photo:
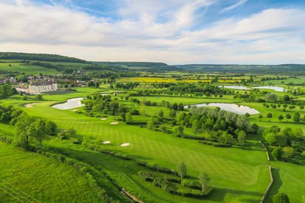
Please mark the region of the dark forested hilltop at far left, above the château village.
<svg viewBox="0 0 305 203"><path fill-rule="evenodd" d="M0 52L0 59L87 63L87 61L79 58L61 56L57 54L35 54L35 53L17 53L17 52Z"/></svg>

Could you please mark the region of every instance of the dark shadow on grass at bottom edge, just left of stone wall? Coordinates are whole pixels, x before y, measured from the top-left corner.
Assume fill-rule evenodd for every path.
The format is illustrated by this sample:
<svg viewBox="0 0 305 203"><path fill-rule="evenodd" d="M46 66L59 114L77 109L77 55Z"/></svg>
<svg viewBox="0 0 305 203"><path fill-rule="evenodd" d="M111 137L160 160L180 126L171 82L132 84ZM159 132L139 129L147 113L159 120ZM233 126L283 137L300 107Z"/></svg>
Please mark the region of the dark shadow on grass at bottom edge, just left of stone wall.
<svg viewBox="0 0 305 203"><path fill-rule="evenodd" d="M254 191L243 191L243 190L234 190L228 188L214 188L211 193L209 194L209 200L211 201L223 201L227 193L236 194L237 196L240 195L250 195L250 196L263 196L261 192L254 192ZM252 201L251 199L244 199L245 201L242 202L257 202L257 200Z"/></svg>

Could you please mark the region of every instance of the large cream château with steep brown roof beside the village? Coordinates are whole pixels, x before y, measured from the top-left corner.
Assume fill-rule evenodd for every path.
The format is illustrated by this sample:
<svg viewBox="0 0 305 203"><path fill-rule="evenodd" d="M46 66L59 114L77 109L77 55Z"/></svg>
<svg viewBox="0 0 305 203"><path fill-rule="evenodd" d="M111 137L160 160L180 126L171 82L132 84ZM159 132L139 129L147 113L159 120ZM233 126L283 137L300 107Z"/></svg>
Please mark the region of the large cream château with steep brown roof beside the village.
<svg viewBox="0 0 305 203"><path fill-rule="evenodd" d="M48 81L41 81L41 82L29 82L28 92L29 93L40 93L40 92L49 92L57 90L57 82L55 78L52 80L49 79Z"/></svg>

